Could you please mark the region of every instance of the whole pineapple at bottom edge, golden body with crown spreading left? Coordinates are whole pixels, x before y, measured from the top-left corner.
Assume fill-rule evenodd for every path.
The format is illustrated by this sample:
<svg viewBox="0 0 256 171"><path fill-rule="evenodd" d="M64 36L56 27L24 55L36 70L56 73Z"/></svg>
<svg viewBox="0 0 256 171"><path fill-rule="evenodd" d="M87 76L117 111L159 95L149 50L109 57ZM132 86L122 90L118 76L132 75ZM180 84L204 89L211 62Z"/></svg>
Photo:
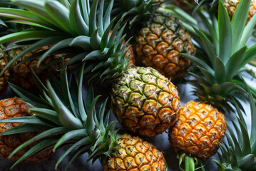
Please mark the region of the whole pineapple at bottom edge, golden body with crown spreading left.
<svg viewBox="0 0 256 171"><path fill-rule="evenodd" d="M56 81L53 80L53 82ZM41 98L32 97L25 90L10 84L11 88L26 99L27 103L39 107L30 109L30 112L34 113L30 118L24 117L23 120L11 118L1 120L1 123L23 122L26 123L24 125L24 128L26 128L26 126L29 127L37 122L41 122L41 125L36 129L46 129L43 133L27 141L26 144L24 143L16 148L9 157L27 145L34 143L34 141L48 137L41 144L34 145L34 149L26 152L14 166L25 160L26 157L33 155L35 151L51 147L53 147L53 150L56 150L65 144L69 145L69 147L59 157L56 167L71 150L76 149L73 155L70 156L68 165L76 158L88 152L88 160L95 161L97 158L101 158L103 170L167 170L163 154L154 145L141 138L132 137L127 134L117 135L115 130L116 122L108 123L110 111L105 119L103 119L107 100L99 106L96 112L95 107L99 96L93 98L93 88L90 87L87 91L87 98L83 98L81 93L82 84L83 68L78 78L78 86L70 86L76 85L76 79L71 79L71 84L68 84L67 74L61 79L60 84L56 85L54 83L57 86L55 88L51 86L50 82L47 82L46 86L40 84L39 88L44 87ZM61 85L65 88L62 89ZM61 90L61 92L58 90ZM79 93L74 93L73 90L77 90ZM63 98L64 96L69 98ZM34 98L37 99L37 103L35 103ZM83 103L83 99L86 99L85 103ZM73 103L75 101L78 103ZM19 128L16 131L22 132ZM9 130L5 132L5 135L14 132Z"/></svg>

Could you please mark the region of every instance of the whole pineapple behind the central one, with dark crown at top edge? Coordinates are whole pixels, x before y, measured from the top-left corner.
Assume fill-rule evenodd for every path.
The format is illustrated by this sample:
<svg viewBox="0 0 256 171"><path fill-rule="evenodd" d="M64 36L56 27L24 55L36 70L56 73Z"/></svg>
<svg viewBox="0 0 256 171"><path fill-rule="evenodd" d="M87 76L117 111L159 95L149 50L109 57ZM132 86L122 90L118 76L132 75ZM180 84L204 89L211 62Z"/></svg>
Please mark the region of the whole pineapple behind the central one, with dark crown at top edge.
<svg viewBox="0 0 256 171"><path fill-rule="evenodd" d="M138 63L171 79L183 77L191 63L180 53L195 55L195 46L178 19L160 11L156 1L117 4L115 10L127 11L123 16L130 19L130 26L136 26L133 47Z"/></svg>

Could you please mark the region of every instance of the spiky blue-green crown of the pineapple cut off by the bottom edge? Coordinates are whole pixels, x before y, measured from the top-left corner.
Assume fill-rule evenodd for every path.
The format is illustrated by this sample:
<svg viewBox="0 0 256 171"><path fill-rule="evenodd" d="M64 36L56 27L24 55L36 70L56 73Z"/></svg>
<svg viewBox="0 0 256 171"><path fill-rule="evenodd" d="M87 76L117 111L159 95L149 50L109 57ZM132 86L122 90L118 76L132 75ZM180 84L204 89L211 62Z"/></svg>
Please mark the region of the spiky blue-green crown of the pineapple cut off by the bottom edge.
<svg viewBox="0 0 256 171"><path fill-rule="evenodd" d="M32 71L41 90L40 98L9 83L24 102L32 106L29 112L34 115L1 120L1 123L25 123L7 130L1 135L26 133L31 130L43 131L24 142L11 153L9 157L27 145L41 140L20 157L12 167L22 162L26 157L38 155L49 148L53 148L53 151L55 151L63 145L70 146L58 158L56 167L72 150L75 150L75 152L70 156L68 165L86 152L88 152L88 160L94 162L98 157L110 156L113 149L117 147L116 140L120 137L116 135L116 122L108 123L110 110L104 119L107 99L101 103L98 112L96 112L95 107L99 95L96 98L93 97L91 86L88 89L85 103L83 103L83 67L78 78L78 85L74 77L71 78L71 83L68 83L67 74L63 73L60 82L54 76L50 76L51 81L48 81L44 86Z"/></svg>

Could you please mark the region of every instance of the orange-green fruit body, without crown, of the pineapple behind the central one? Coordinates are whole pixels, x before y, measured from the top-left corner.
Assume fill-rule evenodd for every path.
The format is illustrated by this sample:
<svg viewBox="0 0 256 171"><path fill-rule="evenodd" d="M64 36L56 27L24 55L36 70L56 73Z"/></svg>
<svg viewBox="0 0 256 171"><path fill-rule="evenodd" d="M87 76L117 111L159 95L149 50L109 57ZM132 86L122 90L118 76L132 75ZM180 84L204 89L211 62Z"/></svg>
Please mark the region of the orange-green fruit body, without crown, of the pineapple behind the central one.
<svg viewBox="0 0 256 171"><path fill-rule="evenodd" d="M180 53L195 55L191 37L178 19L156 13L135 37L139 63L157 69L168 78L184 76L191 62Z"/></svg>

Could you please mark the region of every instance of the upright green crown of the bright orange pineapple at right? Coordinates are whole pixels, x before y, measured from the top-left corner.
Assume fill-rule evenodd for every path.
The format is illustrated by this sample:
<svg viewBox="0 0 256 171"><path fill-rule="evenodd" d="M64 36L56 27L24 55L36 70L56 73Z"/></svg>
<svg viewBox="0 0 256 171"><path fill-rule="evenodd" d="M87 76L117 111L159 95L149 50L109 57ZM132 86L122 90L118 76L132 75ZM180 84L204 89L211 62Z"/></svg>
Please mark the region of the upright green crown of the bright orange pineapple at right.
<svg viewBox="0 0 256 171"><path fill-rule="evenodd" d="M202 29L198 21L181 9L173 5L165 6L165 10L183 21L199 45L196 56L182 54L200 70L200 74L190 72L196 78L196 81L190 82L195 86L195 95L198 95L199 100L220 109L232 110L231 104L239 103L237 98L240 97L236 96L236 92L245 92L245 87L238 75L246 71L245 65L256 57L256 46L246 46L256 24L256 16L246 24L249 7L250 0L241 1L232 21L221 0L218 20L211 11L198 10L196 14L200 24L203 24Z"/></svg>

